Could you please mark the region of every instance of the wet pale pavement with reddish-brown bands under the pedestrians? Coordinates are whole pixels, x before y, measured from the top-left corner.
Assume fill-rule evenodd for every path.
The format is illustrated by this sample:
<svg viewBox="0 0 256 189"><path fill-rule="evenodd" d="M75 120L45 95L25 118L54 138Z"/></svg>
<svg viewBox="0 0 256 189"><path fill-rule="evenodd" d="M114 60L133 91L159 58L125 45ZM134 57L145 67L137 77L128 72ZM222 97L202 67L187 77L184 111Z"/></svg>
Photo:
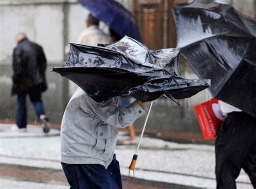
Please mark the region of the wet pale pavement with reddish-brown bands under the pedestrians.
<svg viewBox="0 0 256 189"><path fill-rule="evenodd" d="M1 188L69 188L60 165L59 130L48 134L41 127L28 132L0 124ZM118 139L127 139L119 132ZM136 182L130 183L128 167L136 146L117 146L124 188L215 188L214 146L178 144L144 137L136 164ZM253 188L242 171L237 188Z"/></svg>

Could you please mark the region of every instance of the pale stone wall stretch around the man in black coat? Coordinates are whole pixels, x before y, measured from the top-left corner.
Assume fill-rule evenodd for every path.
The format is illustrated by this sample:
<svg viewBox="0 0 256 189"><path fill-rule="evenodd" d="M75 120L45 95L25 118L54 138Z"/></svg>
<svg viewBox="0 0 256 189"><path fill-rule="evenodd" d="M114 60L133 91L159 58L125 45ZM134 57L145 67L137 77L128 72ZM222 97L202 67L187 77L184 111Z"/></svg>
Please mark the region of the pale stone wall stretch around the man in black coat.
<svg viewBox="0 0 256 189"><path fill-rule="evenodd" d="M51 122L60 123L70 98L69 81L51 70L53 66L64 64L64 46L76 42L78 33L85 28L88 14L72 0L0 1L0 119L16 118L16 97L10 96L11 56L16 45L15 35L23 31L30 40L43 46L48 60L46 78L49 87L43 93L44 106ZM29 99L27 104L29 120L36 121Z"/></svg>

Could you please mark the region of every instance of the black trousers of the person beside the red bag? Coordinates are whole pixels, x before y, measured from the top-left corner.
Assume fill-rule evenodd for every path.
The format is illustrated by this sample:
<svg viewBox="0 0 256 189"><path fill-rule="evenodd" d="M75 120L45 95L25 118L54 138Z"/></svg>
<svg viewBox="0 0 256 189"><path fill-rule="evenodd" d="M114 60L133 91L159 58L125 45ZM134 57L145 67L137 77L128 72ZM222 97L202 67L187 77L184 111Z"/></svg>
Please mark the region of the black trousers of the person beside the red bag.
<svg viewBox="0 0 256 189"><path fill-rule="evenodd" d="M256 188L256 118L244 112L228 113L215 141L217 188L237 188L241 168Z"/></svg>

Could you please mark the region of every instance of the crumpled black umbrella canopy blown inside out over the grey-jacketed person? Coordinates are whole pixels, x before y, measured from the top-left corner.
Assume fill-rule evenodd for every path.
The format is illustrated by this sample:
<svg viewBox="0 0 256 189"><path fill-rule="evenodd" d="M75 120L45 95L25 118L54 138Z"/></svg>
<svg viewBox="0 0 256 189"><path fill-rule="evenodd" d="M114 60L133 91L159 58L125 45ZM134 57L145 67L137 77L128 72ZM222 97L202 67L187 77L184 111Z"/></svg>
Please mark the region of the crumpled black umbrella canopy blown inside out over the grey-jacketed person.
<svg viewBox="0 0 256 189"><path fill-rule="evenodd" d="M124 37L100 46L71 44L64 68L53 68L103 103L117 96L133 96L142 102L188 98L210 85L210 80L181 76L178 49L149 51L142 43Z"/></svg>

